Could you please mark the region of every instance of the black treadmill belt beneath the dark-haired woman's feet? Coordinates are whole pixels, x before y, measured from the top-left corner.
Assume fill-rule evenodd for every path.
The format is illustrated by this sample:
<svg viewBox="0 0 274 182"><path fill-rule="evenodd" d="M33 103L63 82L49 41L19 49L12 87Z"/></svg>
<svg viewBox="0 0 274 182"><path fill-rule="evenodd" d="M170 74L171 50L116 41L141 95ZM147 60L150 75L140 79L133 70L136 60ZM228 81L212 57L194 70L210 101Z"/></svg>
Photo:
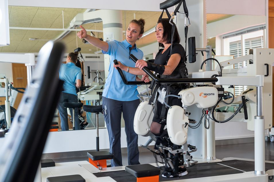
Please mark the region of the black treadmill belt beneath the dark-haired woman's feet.
<svg viewBox="0 0 274 182"><path fill-rule="evenodd" d="M223 164L223 165L220 165ZM240 160L231 160L217 163L199 163L192 167L186 167L188 174L176 178L163 178L160 175L159 181L172 181L179 179L191 179L191 178L200 178L200 177L209 177L209 176L219 176L219 175L230 175L243 173L243 171L254 171L254 162L253 161L240 161ZM224 166L226 165L226 166ZM230 166L230 167L227 167ZM233 168L236 169L233 169ZM237 170L240 169L240 170ZM274 164L265 163L265 171L269 169L274 169ZM161 173L164 171L161 168ZM103 172L103 173L94 173L96 177L105 177L110 176L117 182L136 182L136 177L125 172L125 171L113 171L113 172Z"/></svg>

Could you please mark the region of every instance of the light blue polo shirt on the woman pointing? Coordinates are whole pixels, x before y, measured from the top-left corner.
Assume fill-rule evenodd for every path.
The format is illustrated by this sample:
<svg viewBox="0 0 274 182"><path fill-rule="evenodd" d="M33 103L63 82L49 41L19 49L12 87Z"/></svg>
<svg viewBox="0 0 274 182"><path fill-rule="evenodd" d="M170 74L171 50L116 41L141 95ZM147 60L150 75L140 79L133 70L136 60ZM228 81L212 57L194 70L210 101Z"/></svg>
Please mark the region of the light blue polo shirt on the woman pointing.
<svg viewBox="0 0 274 182"><path fill-rule="evenodd" d="M113 67L113 60L117 59L125 66L135 68L135 62L129 58L129 47L132 47L131 44L129 44L127 40L122 42L114 40L107 43L108 51L105 52L102 50L102 53L110 56L110 64L108 68L108 78L106 79L102 96L118 101L133 101L138 99L137 85L125 85L118 70ZM136 44L130 53L138 59L143 59L143 52L136 48ZM127 81L136 81L136 75L127 73L126 71L123 71L123 73Z"/></svg>

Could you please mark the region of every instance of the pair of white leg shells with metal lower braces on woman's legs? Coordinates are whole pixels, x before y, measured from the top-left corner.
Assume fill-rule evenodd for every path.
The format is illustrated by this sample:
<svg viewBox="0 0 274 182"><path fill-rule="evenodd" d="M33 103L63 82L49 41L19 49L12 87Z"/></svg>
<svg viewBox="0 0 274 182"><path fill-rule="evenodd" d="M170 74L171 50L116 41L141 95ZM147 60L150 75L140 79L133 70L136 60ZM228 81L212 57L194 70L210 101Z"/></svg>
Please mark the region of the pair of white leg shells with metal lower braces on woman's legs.
<svg viewBox="0 0 274 182"><path fill-rule="evenodd" d="M148 101L143 101L139 104L135 116L134 116L134 131L135 133L141 135L141 136L150 136L154 141L159 137L155 137L149 130L152 118L153 118L153 105L148 104ZM152 114L151 114L152 113ZM193 161L191 159L190 152L188 148L190 147L191 152L195 152L197 149L195 146L190 146L187 144L187 131L188 131L188 124L189 119L185 115L185 111L180 106L172 106L168 110L167 115L167 136L163 136L163 140L170 140L170 142L167 142L167 146L164 145L157 145L157 148L159 150L159 153L153 152L158 154L161 158L164 159L167 167L170 167L172 170L174 170L173 160L174 156L176 155L176 160L179 160L179 167L183 166L191 166L194 163L197 163L197 161ZM153 136L151 136L153 135ZM145 148L147 148L148 144L152 141L152 139L149 139L149 142L145 144ZM181 148L173 149L173 144L181 146ZM170 155L167 156L167 153L169 152ZM182 163L184 161L184 163Z"/></svg>

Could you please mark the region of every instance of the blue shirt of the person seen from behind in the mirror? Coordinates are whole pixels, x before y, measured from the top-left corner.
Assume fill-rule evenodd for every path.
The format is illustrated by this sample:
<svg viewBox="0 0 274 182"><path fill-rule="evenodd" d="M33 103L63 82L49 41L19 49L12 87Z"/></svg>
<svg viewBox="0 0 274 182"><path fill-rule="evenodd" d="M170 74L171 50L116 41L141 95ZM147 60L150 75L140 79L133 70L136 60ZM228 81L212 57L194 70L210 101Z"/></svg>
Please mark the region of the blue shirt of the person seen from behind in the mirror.
<svg viewBox="0 0 274 182"><path fill-rule="evenodd" d="M64 81L63 92L77 95L75 83L77 79L82 79L82 71L79 67L75 66L73 62L61 64L59 79Z"/></svg>

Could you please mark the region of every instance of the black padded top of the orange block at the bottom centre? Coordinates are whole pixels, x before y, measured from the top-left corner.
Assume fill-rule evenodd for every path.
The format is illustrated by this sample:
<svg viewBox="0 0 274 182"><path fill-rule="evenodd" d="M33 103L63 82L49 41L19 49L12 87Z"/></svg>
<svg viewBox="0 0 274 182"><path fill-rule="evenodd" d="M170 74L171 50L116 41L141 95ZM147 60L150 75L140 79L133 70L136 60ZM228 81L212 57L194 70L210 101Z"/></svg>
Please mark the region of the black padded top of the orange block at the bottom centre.
<svg viewBox="0 0 274 182"><path fill-rule="evenodd" d="M135 177L147 177L160 175L160 169L150 164L138 164L126 166L125 171Z"/></svg>

